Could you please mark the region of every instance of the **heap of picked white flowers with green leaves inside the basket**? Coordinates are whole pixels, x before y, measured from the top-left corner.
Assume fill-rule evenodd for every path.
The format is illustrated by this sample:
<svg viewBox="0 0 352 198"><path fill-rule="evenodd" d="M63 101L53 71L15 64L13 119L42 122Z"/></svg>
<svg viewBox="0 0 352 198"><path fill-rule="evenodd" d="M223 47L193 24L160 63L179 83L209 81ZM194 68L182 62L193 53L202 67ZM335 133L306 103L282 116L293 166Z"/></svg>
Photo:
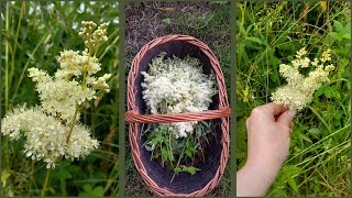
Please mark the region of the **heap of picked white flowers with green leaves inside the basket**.
<svg viewBox="0 0 352 198"><path fill-rule="evenodd" d="M215 75L202 73L199 61L189 56L165 58L165 54L154 58L144 76L143 99L152 114L175 114L208 110L211 97L217 94ZM204 156L207 134L211 133L209 122L180 122L150 124L144 133L146 148L152 157L170 165L175 173L198 170L185 162L194 162ZM175 165L176 164L176 165Z"/></svg>

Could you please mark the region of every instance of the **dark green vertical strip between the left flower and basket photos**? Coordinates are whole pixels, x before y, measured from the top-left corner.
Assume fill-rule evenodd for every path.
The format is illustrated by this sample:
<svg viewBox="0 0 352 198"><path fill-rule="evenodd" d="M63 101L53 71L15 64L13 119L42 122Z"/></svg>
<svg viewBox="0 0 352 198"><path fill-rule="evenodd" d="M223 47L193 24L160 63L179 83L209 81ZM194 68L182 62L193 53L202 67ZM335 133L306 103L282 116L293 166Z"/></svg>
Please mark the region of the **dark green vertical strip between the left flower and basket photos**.
<svg viewBox="0 0 352 198"><path fill-rule="evenodd" d="M125 72L124 72L124 30L125 30L125 1L119 1L119 197L125 197Z"/></svg>

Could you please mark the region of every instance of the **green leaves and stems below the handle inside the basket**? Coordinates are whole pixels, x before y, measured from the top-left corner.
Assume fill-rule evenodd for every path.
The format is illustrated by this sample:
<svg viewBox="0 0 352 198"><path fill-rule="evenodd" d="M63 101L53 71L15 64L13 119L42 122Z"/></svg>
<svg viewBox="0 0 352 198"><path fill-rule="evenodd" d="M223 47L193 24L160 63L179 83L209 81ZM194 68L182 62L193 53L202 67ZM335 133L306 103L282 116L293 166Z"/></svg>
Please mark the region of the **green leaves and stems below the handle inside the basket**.
<svg viewBox="0 0 352 198"><path fill-rule="evenodd" d="M194 164L205 158L213 127L211 122L201 121L194 128L193 134L176 139L172 131L174 128L169 124L147 124L143 131L143 135L146 135L144 146L152 152L152 158L160 160L163 166L173 169L176 175L180 172L194 175L200 170Z"/></svg>

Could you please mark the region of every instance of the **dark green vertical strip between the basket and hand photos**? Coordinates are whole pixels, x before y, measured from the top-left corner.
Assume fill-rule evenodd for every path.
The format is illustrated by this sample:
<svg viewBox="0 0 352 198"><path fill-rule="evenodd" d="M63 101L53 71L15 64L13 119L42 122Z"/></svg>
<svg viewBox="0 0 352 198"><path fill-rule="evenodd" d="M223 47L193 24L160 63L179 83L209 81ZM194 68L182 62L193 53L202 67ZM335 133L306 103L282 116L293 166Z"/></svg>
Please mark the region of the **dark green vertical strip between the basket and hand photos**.
<svg viewBox="0 0 352 198"><path fill-rule="evenodd" d="M237 184L237 157L235 157L235 141L237 141L237 54L235 54L235 3L237 0L231 0L231 81L230 81L230 166L231 166L231 190L230 197L237 197L235 184Z"/></svg>

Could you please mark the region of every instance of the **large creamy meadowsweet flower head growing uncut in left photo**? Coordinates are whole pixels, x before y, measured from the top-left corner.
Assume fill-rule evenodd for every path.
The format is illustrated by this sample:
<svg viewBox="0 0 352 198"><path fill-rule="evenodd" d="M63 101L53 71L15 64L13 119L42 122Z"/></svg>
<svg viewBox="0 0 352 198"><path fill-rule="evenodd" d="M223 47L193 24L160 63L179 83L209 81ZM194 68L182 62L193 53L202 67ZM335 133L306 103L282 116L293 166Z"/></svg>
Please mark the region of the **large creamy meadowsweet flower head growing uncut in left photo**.
<svg viewBox="0 0 352 198"><path fill-rule="evenodd" d="M110 74L96 77L101 69L96 57L100 44L108 40L107 23L97 28L94 22L81 22L79 36L85 41L82 52L65 50L57 62L59 68L51 76L45 70L30 68L29 77L35 82L40 105L25 105L9 111L1 122L2 135L11 141L24 136L26 157L46 163L54 168L65 157L87 156L99 146L88 127L79 122L80 111L87 101L97 98L99 90L109 92Z"/></svg>

